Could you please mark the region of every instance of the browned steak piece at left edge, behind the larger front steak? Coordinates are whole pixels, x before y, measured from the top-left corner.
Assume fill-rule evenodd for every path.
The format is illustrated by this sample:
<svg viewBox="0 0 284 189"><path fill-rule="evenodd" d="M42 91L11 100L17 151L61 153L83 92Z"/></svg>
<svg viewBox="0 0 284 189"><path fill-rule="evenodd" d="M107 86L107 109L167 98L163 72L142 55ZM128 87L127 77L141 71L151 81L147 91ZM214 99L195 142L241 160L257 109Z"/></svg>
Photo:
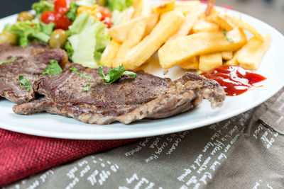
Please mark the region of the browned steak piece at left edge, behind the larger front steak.
<svg viewBox="0 0 284 189"><path fill-rule="evenodd" d="M38 43L28 47L0 45L1 61L9 60L9 63L0 64L0 96L13 103L32 101L35 98L33 88L27 91L20 86L18 76L31 81L31 85L40 77L51 59L58 62L66 62L67 55L64 50L45 49ZM11 59L13 57L13 59Z"/></svg>

